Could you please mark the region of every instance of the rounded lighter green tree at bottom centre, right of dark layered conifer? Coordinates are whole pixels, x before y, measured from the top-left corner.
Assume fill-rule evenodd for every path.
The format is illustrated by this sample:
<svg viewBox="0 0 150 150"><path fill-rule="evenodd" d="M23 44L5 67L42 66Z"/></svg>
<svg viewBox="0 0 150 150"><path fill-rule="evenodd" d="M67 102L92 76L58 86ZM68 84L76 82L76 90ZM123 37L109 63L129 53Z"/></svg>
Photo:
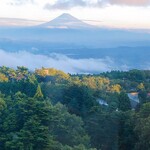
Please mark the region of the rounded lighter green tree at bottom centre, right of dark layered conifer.
<svg viewBox="0 0 150 150"><path fill-rule="evenodd" d="M57 141L69 146L80 144L88 146L89 137L83 129L81 118L69 114L66 107L62 104L54 106L52 115L50 130L55 135Z"/></svg>

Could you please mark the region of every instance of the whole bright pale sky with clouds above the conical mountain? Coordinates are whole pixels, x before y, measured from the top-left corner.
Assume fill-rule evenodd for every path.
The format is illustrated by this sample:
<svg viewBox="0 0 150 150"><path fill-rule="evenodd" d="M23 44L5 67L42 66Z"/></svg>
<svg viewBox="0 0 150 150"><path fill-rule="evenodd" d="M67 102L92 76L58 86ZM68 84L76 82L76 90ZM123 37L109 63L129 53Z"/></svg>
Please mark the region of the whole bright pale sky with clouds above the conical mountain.
<svg viewBox="0 0 150 150"><path fill-rule="evenodd" d="M62 13L98 26L150 28L150 0L0 0L0 18L49 21Z"/></svg>

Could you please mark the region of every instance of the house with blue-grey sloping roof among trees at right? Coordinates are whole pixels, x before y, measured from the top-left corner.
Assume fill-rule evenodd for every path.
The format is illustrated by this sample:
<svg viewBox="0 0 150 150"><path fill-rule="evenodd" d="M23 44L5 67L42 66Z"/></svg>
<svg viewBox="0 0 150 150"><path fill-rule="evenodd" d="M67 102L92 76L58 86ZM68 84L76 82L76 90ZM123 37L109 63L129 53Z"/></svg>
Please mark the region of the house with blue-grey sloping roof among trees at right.
<svg viewBox="0 0 150 150"><path fill-rule="evenodd" d="M136 106L140 103L139 93L138 92L128 93L128 97L129 97L130 102L131 102L131 107L136 108Z"/></svg>

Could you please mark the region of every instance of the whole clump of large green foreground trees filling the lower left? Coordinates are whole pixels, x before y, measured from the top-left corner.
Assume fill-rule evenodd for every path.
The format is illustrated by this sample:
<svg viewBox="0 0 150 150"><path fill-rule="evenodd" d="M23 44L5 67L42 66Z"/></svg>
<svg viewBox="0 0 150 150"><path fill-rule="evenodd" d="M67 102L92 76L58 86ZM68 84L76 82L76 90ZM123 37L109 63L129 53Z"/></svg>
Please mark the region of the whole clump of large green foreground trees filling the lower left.
<svg viewBox="0 0 150 150"><path fill-rule="evenodd" d="M83 121L69 114L62 104L53 106L49 101L29 98L20 92L11 101L5 101L0 101L1 111L4 109L0 119L3 150L55 150L59 145L71 148L80 144L85 149L89 147Z"/></svg>

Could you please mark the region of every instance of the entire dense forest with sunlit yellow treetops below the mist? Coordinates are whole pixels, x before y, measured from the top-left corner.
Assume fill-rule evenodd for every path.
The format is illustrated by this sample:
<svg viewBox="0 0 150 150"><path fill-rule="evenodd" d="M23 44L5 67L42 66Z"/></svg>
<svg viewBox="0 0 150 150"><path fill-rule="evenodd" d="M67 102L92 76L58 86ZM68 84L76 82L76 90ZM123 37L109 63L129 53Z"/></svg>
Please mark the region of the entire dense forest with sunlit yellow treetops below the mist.
<svg viewBox="0 0 150 150"><path fill-rule="evenodd" d="M150 70L0 67L0 150L149 149Z"/></svg>

